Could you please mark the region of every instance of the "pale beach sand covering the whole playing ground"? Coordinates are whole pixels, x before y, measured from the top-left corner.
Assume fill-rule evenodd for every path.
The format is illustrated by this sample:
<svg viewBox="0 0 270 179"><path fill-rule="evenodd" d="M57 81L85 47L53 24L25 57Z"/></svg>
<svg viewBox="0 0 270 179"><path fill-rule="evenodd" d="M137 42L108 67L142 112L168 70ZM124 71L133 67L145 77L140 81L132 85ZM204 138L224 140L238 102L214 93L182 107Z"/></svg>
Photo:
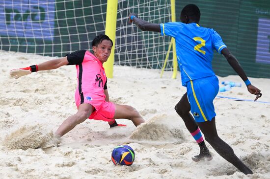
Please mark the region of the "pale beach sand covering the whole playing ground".
<svg viewBox="0 0 270 179"><path fill-rule="evenodd" d="M39 71L17 80L10 69L38 64L52 57L0 51L0 179L269 179L270 104L216 98L216 128L219 136L250 167L245 176L220 157L206 142L211 161L194 162L199 148L174 111L186 89L180 74L171 79L166 71L114 67L108 79L110 101L131 105L146 120L136 128L109 128L103 121L86 120L49 147L54 131L76 105L75 66ZM255 99L239 76L218 77L242 83L219 93L241 99ZM262 90L259 101L270 102L270 79L249 78ZM49 145L48 145L49 144ZM131 166L115 166L110 155L117 145L128 144L135 151Z"/></svg>

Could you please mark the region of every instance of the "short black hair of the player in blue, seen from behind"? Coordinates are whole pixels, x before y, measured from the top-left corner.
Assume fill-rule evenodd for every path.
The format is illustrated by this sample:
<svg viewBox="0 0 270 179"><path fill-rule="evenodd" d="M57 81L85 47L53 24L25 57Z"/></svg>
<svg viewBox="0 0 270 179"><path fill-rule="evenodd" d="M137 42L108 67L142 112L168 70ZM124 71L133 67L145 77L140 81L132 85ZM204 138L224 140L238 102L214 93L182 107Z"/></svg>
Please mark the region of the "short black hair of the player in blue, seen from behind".
<svg viewBox="0 0 270 179"><path fill-rule="evenodd" d="M195 4L188 4L181 11L181 16L185 16L185 15L188 16L189 19L199 22L200 17L201 17L201 12L198 6L196 6Z"/></svg>

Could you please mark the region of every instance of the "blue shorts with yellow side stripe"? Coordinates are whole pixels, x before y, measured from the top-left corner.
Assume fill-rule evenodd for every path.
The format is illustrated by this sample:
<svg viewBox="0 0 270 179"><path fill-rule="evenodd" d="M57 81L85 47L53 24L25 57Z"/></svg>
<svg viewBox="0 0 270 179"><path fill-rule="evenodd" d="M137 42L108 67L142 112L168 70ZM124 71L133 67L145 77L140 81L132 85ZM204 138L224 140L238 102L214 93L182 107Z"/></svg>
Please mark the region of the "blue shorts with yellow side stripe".
<svg viewBox="0 0 270 179"><path fill-rule="evenodd" d="M216 116L213 101L218 93L218 79L209 76L187 82L191 113L196 122L211 121Z"/></svg>

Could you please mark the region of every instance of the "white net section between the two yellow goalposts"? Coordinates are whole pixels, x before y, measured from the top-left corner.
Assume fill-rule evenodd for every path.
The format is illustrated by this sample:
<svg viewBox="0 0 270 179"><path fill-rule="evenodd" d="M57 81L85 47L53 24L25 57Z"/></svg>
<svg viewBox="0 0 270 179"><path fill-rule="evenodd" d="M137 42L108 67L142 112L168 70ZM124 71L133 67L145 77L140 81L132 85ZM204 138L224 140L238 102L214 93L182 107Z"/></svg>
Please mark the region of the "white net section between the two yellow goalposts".
<svg viewBox="0 0 270 179"><path fill-rule="evenodd" d="M128 23L130 12L148 22L170 22L170 0L122 0L118 1L115 64L161 68L169 47L170 38L157 32L143 32L135 24ZM124 60L122 60L124 59ZM172 59L172 56L171 58ZM169 61L166 68L172 68Z"/></svg>

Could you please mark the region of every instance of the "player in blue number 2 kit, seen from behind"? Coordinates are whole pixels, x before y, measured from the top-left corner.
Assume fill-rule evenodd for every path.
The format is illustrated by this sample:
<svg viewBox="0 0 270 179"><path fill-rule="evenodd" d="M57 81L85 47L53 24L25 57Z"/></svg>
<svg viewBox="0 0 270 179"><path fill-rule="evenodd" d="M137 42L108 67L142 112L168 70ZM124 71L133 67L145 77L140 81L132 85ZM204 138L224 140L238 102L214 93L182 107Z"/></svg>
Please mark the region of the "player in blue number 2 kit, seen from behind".
<svg viewBox="0 0 270 179"><path fill-rule="evenodd" d="M150 23L138 18L137 14L129 15L133 22L143 31L160 32L175 38L177 60L181 71L182 86L187 92L175 106L176 112L184 120L190 134L200 146L200 154L192 157L194 161L211 160L212 156L206 147L206 141L216 152L236 166L244 174L252 171L234 154L233 149L225 143L216 132L215 108L213 100L218 92L218 79L212 69L213 50L223 54L231 67L238 73L255 101L262 96L261 90L251 85L238 60L222 42L219 34L210 28L200 27L200 10L194 4L186 5L181 11L181 22ZM191 113L189 113L191 111ZM193 116L192 116L193 115Z"/></svg>

